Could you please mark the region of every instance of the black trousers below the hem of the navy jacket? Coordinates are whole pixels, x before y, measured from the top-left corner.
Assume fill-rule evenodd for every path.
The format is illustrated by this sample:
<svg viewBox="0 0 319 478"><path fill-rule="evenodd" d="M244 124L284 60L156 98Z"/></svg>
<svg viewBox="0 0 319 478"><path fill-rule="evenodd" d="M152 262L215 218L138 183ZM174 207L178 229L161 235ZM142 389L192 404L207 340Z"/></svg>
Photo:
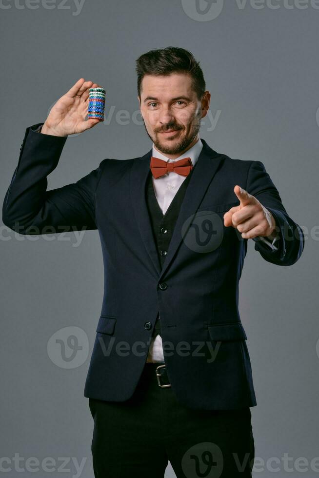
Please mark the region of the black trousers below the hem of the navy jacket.
<svg viewBox="0 0 319 478"><path fill-rule="evenodd" d="M125 402L89 398L95 478L250 478L255 458L249 407L194 410L161 388L159 363L146 363Z"/></svg>

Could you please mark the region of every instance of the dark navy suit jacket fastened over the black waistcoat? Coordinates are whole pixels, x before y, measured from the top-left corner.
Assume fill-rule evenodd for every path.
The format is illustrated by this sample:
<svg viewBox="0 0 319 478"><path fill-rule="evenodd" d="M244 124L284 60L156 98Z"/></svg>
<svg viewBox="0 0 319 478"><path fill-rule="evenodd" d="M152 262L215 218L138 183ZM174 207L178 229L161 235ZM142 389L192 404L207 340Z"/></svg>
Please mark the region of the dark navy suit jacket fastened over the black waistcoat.
<svg viewBox="0 0 319 478"><path fill-rule="evenodd" d="M114 401L132 396L159 314L167 373L181 403L198 409L256 405L238 309L247 239L223 225L225 212L239 204L234 186L259 199L279 226L277 251L255 241L263 259L292 265L304 247L302 230L288 216L262 162L231 159L201 139L161 268L145 200L152 150L141 158L103 159L77 182L47 191L46 178L57 167L66 138L33 131L40 124L26 128L2 218L20 234L52 232L46 226L57 233L99 231L104 296L92 323L96 339L84 396ZM220 240L201 253L190 247L189 218L207 210Z"/></svg>

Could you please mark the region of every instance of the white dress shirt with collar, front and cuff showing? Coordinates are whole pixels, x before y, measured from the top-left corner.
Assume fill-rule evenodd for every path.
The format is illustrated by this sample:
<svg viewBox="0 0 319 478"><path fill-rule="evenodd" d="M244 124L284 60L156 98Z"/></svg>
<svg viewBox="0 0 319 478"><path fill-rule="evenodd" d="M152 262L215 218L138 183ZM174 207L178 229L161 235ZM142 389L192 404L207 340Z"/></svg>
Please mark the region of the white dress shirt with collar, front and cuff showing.
<svg viewBox="0 0 319 478"><path fill-rule="evenodd" d="M179 159L182 159L182 158L190 158L193 166L195 166L195 163L199 158L199 153L202 147L203 147L203 143L201 142L199 138L198 141L190 149L185 151L178 158L169 159L167 156L164 156L162 153L160 153L155 148L153 143L152 156L155 156L156 158L163 159L164 161L168 161L168 162L178 161ZM179 190L179 186L182 184L182 182L185 179L186 179L186 176L181 176L180 174L175 173L174 171L167 172L164 176L161 176L160 178L157 178L157 179L155 179L152 176L155 196L163 214L166 213L170 203L172 202L172 199L174 198L175 194ZM274 245L275 241L279 238L278 235L272 242L270 241L270 239L267 239L264 237L259 236L258 238L261 239L263 242L265 242L272 249L275 249L275 250L278 249ZM164 361L164 355L163 355L162 339L160 335L157 335L155 339L151 341L146 362L163 362L163 361Z"/></svg>

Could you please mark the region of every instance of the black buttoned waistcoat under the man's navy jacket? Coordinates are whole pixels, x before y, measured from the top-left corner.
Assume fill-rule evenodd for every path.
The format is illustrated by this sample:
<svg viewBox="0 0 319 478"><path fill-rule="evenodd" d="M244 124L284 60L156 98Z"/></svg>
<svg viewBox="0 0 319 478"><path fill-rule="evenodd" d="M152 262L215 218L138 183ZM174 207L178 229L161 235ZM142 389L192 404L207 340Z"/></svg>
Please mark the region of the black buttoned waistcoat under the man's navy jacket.
<svg viewBox="0 0 319 478"><path fill-rule="evenodd" d="M195 163L195 166L196 164L197 163ZM170 203L164 215L159 207L159 203L155 196L151 171L149 172L149 175L147 177L146 204L147 204L147 209L148 209L148 213L149 213L149 217L150 217L150 221L152 225L153 236L156 243L159 262L161 266L163 265L163 262L167 255L169 243L172 239L174 227L175 227L177 218L179 216L179 209L184 199L185 191L195 166L192 168L189 175L186 177L186 179L183 180L182 184L179 186L178 192L175 194L172 202ZM157 179L155 179L155 181L156 180ZM161 335L159 316L156 319L152 337L154 338L157 334Z"/></svg>

